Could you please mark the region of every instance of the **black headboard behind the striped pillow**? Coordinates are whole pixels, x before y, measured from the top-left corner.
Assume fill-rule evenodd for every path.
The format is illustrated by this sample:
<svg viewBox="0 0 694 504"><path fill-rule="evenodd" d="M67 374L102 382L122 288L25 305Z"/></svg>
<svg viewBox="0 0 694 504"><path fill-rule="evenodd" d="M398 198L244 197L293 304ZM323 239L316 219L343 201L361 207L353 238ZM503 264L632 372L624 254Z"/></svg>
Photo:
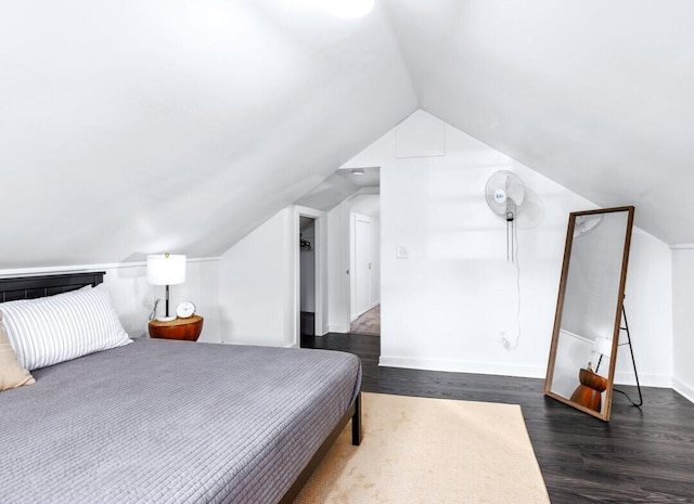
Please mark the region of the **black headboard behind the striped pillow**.
<svg viewBox="0 0 694 504"><path fill-rule="evenodd" d="M105 274L105 271L90 271L0 279L0 302L52 296L77 290L85 285L95 287L104 281Z"/></svg>

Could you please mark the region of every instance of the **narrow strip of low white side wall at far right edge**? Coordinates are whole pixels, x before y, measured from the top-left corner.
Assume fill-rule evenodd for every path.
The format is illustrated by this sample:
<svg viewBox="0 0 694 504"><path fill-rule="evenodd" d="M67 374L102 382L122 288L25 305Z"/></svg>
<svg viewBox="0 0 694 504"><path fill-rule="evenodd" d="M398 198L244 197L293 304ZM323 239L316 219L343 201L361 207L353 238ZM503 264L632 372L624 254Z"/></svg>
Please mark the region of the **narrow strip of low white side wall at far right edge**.
<svg viewBox="0 0 694 504"><path fill-rule="evenodd" d="M672 249L674 365L672 388L694 401L694 245Z"/></svg>

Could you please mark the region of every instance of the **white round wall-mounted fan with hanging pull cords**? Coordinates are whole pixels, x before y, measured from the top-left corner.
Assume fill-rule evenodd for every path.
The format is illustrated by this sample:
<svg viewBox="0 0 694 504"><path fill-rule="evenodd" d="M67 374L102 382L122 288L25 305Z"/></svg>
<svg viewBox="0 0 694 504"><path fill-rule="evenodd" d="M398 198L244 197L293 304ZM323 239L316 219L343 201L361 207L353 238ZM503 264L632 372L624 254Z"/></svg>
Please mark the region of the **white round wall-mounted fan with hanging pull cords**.
<svg viewBox="0 0 694 504"><path fill-rule="evenodd" d="M513 171L497 171L487 181L485 197L491 211L506 220L506 259L514 261L514 222L525 201L525 184Z"/></svg>

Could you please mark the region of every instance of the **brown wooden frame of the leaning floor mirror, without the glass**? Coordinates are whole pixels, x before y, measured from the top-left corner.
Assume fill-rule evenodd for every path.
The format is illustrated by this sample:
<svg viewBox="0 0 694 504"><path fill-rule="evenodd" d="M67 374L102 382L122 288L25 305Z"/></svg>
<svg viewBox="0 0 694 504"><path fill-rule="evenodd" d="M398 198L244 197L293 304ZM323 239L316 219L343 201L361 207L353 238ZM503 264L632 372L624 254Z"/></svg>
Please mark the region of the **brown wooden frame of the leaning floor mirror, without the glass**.
<svg viewBox="0 0 694 504"><path fill-rule="evenodd" d="M560 393L552 391L552 383L554 379L555 364L556 364L556 353L558 348L560 340L560 332L562 327L562 316L564 314L564 302L566 298L566 286L568 280L569 272L569 262L571 257L571 248L574 245L574 230L576 227L576 218L579 216L592 216L600 214L614 214L619 211L626 211L627 215L627 224L625 230L625 240L624 240L624 250L621 256L621 274L619 279L619 287L617 293L617 299L615 299L615 316L613 324L613 335L612 335L612 353L609 359L609 371L606 377L605 390L604 390L604 403L602 405L602 411L595 411L587 405L583 405L579 402L571 400L570 398L564 397ZM619 347L619 334L621 329L621 318L622 318L622 305L624 305L624 295L625 295L625 286L627 282L627 266L629 263L629 249L631 245L631 231L633 228L633 216L634 216L634 207L633 206L625 206L625 207L615 207L615 208L600 208L596 210L588 210L588 211L575 211L569 215L568 218L568 228L566 232L566 245L564 248L564 262L562 266L562 279L560 282L560 290L556 299L556 312L554 315L554 328L552 332L552 346L550 348L550 358L548 362L547 377L544 380L544 395L556 399L565 404L568 404L577 410L580 410L589 415L595 416L604 422L609 422L609 414L612 412L612 397L613 397L613 384L615 378L615 364L617 362L617 349ZM577 379L579 373L581 374L581 378L583 378L582 369L577 370ZM597 375L599 376L599 375ZM600 377L600 376L599 376ZM579 382L581 383L581 382ZM576 393L576 392L575 392Z"/></svg>

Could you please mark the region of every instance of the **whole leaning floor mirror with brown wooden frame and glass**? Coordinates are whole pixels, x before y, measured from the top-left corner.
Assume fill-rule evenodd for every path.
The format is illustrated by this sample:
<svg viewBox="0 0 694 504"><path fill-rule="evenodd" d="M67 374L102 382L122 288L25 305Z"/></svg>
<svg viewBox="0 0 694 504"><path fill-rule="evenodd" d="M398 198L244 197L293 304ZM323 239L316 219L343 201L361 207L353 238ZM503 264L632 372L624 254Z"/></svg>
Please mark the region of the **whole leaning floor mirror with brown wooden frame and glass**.
<svg viewBox="0 0 694 504"><path fill-rule="evenodd" d="M605 422L622 320L633 207L569 215L544 395Z"/></svg>

